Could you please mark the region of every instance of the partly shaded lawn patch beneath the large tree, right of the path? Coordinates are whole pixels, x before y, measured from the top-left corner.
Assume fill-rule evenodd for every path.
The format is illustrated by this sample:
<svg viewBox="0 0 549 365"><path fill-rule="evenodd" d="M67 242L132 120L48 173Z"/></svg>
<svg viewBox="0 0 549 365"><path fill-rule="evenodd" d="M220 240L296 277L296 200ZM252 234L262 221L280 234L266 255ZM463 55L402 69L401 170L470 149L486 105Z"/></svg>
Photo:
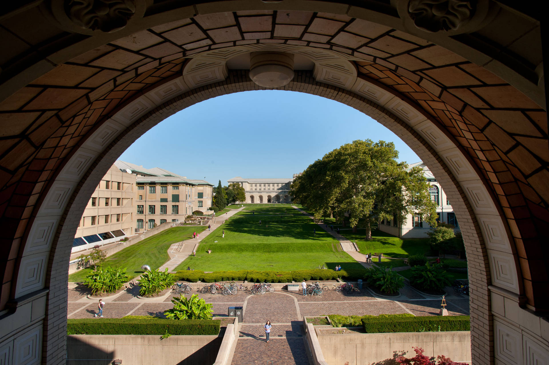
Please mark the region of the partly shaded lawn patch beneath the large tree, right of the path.
<svg viewBox="0 0 549 365"><path fill-rule="evenodd" d="M407 258L408 255L426 254L431 251L429 238L408 238L402 239L391 236L379 230L372 232L372 240L366 241L366 230L358 229L357 233L349 231L340 231L341 235L352 242L356 242L358 249L363 254L382 253L388 257Z"/></svg>

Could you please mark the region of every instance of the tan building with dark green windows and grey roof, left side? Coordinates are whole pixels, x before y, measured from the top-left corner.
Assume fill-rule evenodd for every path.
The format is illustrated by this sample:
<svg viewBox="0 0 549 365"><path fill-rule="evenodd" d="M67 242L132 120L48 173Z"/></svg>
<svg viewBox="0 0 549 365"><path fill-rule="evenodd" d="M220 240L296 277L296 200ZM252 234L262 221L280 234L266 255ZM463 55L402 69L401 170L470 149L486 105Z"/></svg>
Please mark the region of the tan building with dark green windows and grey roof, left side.
<svg viewBox="0 0 549 365"><path fill-rule="evenodd" d="M147 169L124 161L115 164L136 175L136 232L182 221L195 210L206 212L211 207L213 185L208 181L187 179L158 167Z"/></svg>

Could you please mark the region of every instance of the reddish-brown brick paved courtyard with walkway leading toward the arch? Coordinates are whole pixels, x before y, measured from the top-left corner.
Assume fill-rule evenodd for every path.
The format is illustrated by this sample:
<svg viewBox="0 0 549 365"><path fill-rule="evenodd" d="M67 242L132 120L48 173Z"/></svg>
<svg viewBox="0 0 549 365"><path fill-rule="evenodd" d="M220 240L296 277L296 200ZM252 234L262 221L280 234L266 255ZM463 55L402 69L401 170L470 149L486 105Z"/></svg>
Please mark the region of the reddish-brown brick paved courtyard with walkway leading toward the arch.
<svg viewBox="0 0 549 365"><path fill-rule="evenodd" d="M303 316L319 315L380 315L412 313L416 316L438 315L440 299L424 296L411 287L401 289L394 299L380 298L365 288L359 294L348 295L327 290L322 296L303 296L301 292L277 289L275 293L251 295L238 291L236 295L201 294L196 289L204 284L193 284L193 293L211 303L214 316L227 316L229 306L244 307L244 322L240 326L239 339L234 350L232 364L266 364L275 360L277 365L309 364L305 335L302 332ZM329 287L332 284L328 284ZM446 308L450 315L468 315L469 297L453 293L447 287ZM69 318L91 318L97 309L97 300L86 297L85 287L69 289ZM173 305L170 291L152 299L139 299L137 287L104 299L105 318L121 318L127 315L163 316ZM266 343L265 322L271 321L271 340ZM100 321L100 318L98 318Z"/></svg>

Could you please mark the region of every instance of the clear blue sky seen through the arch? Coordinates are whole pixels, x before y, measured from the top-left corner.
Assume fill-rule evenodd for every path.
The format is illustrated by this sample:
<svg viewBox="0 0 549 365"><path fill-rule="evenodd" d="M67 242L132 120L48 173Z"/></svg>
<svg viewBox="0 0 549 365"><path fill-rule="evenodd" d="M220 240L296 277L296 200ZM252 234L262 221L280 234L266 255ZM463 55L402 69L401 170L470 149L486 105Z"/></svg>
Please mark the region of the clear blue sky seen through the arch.
<svg viewBox="0 0 549 365"><path fill-rule="evenodd" d="M357 139L393 141L400 161L420 161L399 137L337 101L283 90L206 100L166 118L119 159L205 179L292 178L316 159Z"/></svg>

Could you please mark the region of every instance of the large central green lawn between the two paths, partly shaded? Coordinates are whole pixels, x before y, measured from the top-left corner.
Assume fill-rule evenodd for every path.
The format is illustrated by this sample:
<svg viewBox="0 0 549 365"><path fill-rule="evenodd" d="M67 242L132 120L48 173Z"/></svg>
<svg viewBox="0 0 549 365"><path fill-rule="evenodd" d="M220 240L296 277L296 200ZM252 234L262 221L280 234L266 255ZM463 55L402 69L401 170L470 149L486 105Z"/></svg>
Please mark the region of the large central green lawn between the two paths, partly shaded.
<svg viewBox="0 0 549 365"><path fill-rule="evenodd" d="M337 239L318 229L310 218L290 204L245 205L247 209L205 237L197 256L189 257L176 270L190 266L201 271L289 271L313 269L317 265L331 269L338 264L344 269L363 268L340 250ZM208 249L212 250L211 254Z"/></svg>

